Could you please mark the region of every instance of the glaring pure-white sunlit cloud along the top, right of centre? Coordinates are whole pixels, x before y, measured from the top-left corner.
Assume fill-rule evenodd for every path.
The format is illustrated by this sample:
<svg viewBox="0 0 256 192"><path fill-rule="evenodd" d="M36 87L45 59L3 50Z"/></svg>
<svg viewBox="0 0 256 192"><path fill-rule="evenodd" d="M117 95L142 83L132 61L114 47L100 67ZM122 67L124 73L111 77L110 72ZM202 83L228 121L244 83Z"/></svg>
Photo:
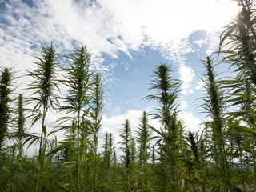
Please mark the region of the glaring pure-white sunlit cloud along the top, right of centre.
<svg viewBox="0 0 256 192"><path fill-rule="evenodd" d="M117 31L134 49L142 41L166 43L187 38L194 30L214 31L234 13L234 2L215 0L99 0L112 14Z"/></svg>

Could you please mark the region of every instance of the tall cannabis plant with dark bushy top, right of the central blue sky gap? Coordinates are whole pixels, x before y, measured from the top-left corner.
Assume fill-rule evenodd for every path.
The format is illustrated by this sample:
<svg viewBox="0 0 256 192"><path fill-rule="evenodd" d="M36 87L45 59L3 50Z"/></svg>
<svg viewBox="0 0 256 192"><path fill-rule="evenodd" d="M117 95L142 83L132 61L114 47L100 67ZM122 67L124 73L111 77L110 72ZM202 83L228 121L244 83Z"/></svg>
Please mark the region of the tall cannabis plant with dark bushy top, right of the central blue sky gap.
<svg viewBox="0 0 256 192"><path fill-rule="evenodd" d="M158 101L158 114L154 114L154 118L157 118L163 126L163 129L157 130L150 126L158 136L158 144L161 148L160 160L162 165L168 165L163 167L165 171L166 181L162 185L162 190L174 190L177 191L182 187L181 173L178 167L179 148L182 145L182 122L178 119L178 110L175 103L178 97L178 87L180 82L171 78L170 66L166 64L160 64L154 70L154 80L149 90L156 91L156 94L148 95L147 99L154 99ZM158 171L159 173L159 171ZM170 181L170 182L169 182Z"/></svg>

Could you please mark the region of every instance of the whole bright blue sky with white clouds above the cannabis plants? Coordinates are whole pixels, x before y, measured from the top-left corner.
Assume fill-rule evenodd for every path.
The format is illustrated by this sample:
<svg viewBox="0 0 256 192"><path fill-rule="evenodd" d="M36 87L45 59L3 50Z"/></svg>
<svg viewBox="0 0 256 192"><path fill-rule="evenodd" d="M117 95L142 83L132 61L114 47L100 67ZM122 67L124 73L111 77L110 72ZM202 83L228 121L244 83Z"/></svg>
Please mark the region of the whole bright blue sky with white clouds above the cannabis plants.
<svg viewBox="0 0 256 192"><path fill-rule="evenodd" d="M196 101L203 94L200 59L217 49L222 27L237 10L230 0L0 0L0 66L26 74L40 44L53 41L63 54L87 46L104 80L100 138L112 132L117 143L126 118L136 130L143 110L154 113L156 103L143 98L152 70L166 62L182 82L180 117L187 129L198 130L205 118ZM19 82L26 87L25 78Z"/></svg>

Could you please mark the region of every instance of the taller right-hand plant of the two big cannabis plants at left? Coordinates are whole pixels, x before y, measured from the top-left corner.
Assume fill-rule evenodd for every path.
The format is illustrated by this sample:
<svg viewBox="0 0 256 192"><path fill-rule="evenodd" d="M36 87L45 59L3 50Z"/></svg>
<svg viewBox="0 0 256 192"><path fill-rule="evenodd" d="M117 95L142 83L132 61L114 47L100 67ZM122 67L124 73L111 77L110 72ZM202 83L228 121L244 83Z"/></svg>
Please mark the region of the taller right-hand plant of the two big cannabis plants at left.
<svg viewBox="0 0 256 192"><path fill-rule="evenodd" d="M82 133L85 131L82 130L82 119L88 114L90 103L90 54L86 50L86 46L82 46L74 50L68 59L68 66L62 68L66 72L66 79L62 82L68 88L68 94L66 98L63 98L66 105L62 106L62 110L69 115L61 119L64 122L76 123L76 126L72 126L72 128L75 127L76 134L76 141L73 141L76 147L74 191L78 192L82 190L80 166L83 157L82 149L85 144L85 141L82 141Z"/></svg>

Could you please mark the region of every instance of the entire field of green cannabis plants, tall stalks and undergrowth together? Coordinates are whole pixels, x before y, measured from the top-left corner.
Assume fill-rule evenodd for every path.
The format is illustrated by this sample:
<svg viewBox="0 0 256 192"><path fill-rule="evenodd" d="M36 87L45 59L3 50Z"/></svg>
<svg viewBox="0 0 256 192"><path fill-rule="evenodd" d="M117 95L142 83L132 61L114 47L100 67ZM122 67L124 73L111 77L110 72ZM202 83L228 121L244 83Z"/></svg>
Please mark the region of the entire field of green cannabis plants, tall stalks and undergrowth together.
<svg viewBox="0 0 256 192"><path fill-rule="evenodd" d="M63 56L54 46L41 46L28 98L14 95L13 69L0 78L1 191L255 191L256 190L256 26L255 2L238 0L240 12L222 32L216 53L234 69L235 77L218 79L214 59L202 60L206 94L199 98L208 117L202 132L191 132L179 118L181 82L171 66L153 70L149 90L158 107L146 111L133 138L129 119L120 127L122 157L113 136L106 133L98 150L102 127L101 74L90 70L85 46ZM65 57L66 64L60 65ZM149 101L150 102L150 101ZM32 106L27 109L26 106ZM49 113L63 116L50 131ZM30 133L37 127L40 134ZM50 139L56 132L64 139ZM152 134L154 132L154 134ZM157 135L157 136L153 136ZM154 142L156 141L156 142ZM27 157L26 147L38 146ZM26 147L25 147L26 146Z"/></svg>

